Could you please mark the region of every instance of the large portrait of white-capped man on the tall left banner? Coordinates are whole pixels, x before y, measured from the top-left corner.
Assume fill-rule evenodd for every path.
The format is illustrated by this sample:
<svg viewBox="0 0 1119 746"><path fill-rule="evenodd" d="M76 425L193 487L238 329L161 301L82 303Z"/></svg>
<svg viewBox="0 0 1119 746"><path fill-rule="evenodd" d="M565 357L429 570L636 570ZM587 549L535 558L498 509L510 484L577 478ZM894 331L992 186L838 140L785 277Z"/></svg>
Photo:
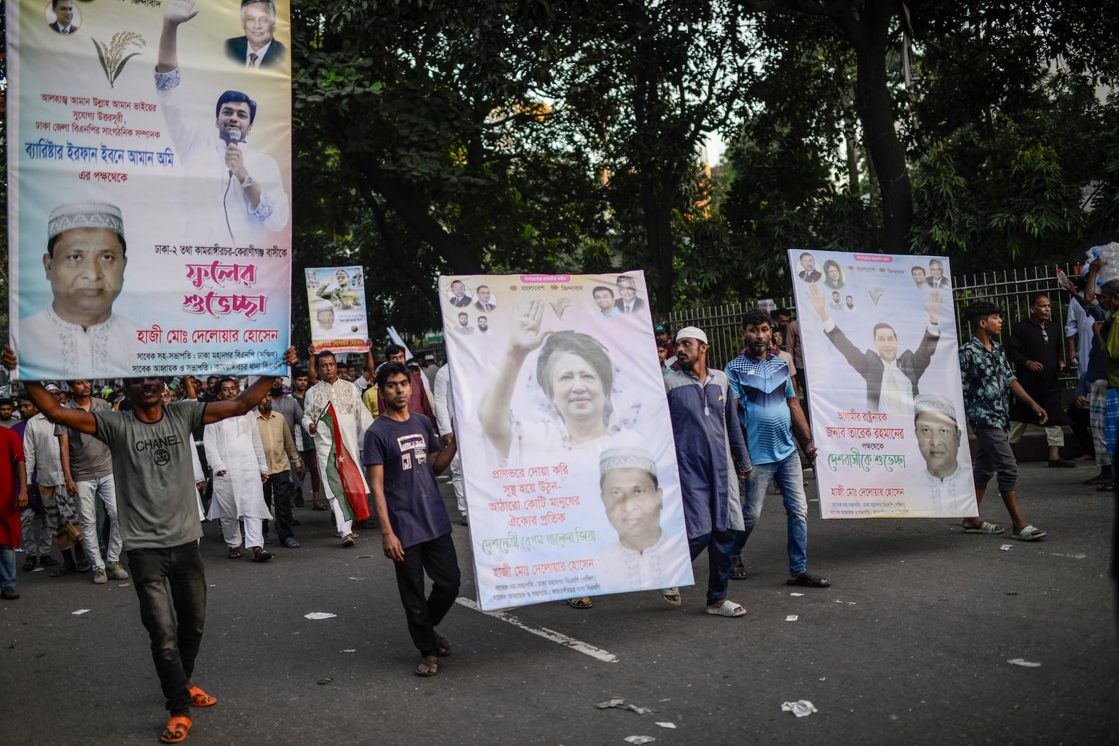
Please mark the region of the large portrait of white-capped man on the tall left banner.
<svg viewBox="0 0 1119 746"><path fill-rule="evenodd" d="M102 378L132 372L137 324L113 313L124 284L124 219L115 205L69 202L47 219L43 268L53 295L19 323L28 378Z"/></svg>

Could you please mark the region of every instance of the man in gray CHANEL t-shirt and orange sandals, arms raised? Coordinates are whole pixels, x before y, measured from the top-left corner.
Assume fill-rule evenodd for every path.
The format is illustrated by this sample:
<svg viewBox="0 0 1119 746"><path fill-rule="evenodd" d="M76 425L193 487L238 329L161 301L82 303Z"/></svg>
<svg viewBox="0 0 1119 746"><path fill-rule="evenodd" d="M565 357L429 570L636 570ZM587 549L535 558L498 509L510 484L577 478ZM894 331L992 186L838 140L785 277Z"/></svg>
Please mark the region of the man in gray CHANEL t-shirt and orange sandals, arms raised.
<svg viewBox="0 0 1119 746"><path fill-rule="evenodd" d="M284 353L295 362L295 349ZM4 346L3 366L18 361ZM237 398L163 405L163 381L130 378L134 408L130 412L62 407L37 381L25 381L28 396L47 419L103 441L113 454L113 473L121 482L121 529L140 602L140 618L151 638L152 659L171 718L164 742L182 740L191 707L217 702L190 683L206 620L206 575L198 538L198 503L190 459L191 431L226 417L244 415L272 386L263 376Z"/></svg>

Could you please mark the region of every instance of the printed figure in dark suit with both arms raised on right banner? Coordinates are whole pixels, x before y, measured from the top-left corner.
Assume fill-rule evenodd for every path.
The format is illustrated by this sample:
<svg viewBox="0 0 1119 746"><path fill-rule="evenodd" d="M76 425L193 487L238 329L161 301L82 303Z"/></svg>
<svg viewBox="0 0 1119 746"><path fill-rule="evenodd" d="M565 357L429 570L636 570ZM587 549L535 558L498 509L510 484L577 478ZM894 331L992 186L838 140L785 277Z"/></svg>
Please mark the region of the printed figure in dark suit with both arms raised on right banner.
<svg viewBox="0 0 1119 746"><path fill-rule="evenodd" d="M824 333L835 344L844 359L866 381L866 407L872 412L886 414L910 414L913 397L920 394L919 383L924 375L940 341L941 298L932 291L924 303L929 314L929 325L916 351L897 352L897 332L883 322L874 325L874 349L859 350L836 325L828 314L827 301L812 285L809 289L812 309L824 322Z"/></svg>

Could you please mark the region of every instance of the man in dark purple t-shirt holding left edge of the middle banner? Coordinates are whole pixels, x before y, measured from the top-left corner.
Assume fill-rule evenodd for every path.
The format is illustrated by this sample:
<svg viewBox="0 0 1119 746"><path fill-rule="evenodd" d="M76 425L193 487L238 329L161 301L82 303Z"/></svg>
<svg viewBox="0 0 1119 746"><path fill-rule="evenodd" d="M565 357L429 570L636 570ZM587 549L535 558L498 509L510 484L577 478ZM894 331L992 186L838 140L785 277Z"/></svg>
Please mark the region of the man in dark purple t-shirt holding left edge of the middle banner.
<svg viewBox="0 0 1119 746"><path fill-rule="evenodd" d="M461 577L451 519L435 482L454 457L454 435L446 435L446 448L441 450L431 419L408 412L412 380L399 362L377 370L377 388L385 408L365 432L363 463L385 556L396 569L408 633L423 657L416 673L435 676L440 657L451 652L435 625L454 605ZM424 570L432 582L426 598Z"/></svg>

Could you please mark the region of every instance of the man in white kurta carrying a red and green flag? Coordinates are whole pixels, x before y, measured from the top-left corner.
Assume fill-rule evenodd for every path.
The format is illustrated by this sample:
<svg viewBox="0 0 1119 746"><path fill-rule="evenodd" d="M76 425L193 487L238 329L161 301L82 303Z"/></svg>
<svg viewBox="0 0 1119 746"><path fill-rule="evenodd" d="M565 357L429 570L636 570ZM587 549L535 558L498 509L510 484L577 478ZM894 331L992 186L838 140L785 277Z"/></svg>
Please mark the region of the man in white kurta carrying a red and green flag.
<svg viewBox="0 0 1119 746"><path fill-rule="evenodd" d="M303 399L303 429L314 438L316 460L318 461L319 475L322 482L322 494L326 495L330 510L335 514L335 526L338 528L338 536L342 537L342 545L354 546L354 521L346 517L339 500L345 500L346 495L335 494L331 487L331 474L337 475L338 466L331 463L335 451L335 437L331 428L325 423L320 427L319 421L326 414L327 407L335 405L335 416L338 418L338 432L341 435L342 444L351 459L360 459L358 445L358 433L365 431L373 424L373 415L361 404L361 393L357 386L348 380L338 377L338 362L332 352L320 352L316 358L316 371L319 383L307 389L307 397ZM369 493L369 485L365 481L365 470L358 469L361 474L361 484L366 494Z"/></svg>

